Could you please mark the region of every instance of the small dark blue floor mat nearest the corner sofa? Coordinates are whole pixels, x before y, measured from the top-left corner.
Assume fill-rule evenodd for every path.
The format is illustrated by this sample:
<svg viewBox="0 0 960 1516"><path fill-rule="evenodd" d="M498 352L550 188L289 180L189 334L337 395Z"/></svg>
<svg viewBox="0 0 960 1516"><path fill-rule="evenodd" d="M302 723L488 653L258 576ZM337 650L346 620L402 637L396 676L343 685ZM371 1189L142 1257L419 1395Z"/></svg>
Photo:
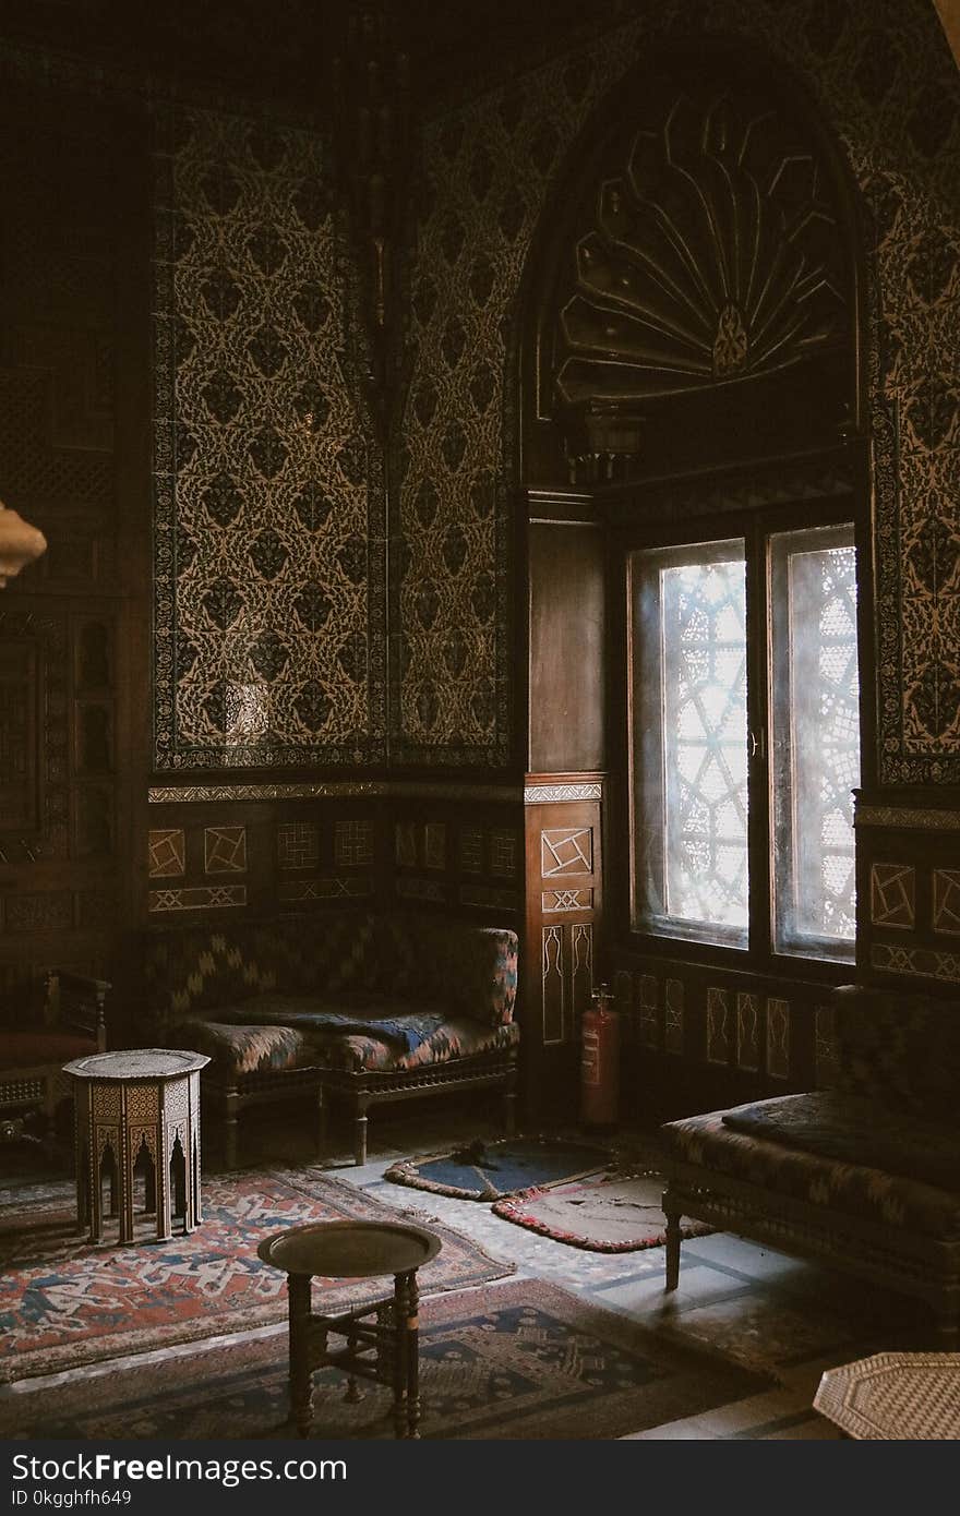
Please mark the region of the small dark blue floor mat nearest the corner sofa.
<svg viewBox="0 0 960 1516"><path fill-rule="evenodd" d="M496 1201L517 1190L563 1184L596 1173L613 1163L607 1148L563 1137L505 1137L469 1143L450 1152L405 1158L384 1173L394 1184L409 1184L460 1201Z"/></svg>

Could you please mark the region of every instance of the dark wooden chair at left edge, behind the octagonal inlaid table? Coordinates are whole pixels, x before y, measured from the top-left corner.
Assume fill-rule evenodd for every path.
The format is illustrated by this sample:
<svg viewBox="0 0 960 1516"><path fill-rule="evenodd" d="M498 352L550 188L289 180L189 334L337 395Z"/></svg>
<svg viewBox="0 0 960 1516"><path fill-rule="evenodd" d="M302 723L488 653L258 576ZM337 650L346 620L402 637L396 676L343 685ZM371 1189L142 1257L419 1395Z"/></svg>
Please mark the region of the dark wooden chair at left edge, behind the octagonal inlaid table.
<svg viewBox="0 0 960 1516"><path fill-rule="evenodd" d="M71 1098L64 1064L106 1052L109 988L106 979L50 969L41 1019L0 1026L0 1142L56 1146L56 1111Z"/></svg>

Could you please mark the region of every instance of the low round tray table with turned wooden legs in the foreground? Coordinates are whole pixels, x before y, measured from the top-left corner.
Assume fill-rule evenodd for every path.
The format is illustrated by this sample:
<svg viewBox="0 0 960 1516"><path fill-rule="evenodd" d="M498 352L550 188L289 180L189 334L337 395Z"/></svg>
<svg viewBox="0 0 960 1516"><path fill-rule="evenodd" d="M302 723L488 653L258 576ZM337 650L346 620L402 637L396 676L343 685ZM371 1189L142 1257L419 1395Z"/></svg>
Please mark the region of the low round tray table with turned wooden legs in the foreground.
<svg viewBox="0 0 960 1516"><path fill-rule="evenodd" d="M417 1269L440 1252L425 1226L393 1222L312 1222L265 1237L258 1255L287 1273L290 1308L290 1413L300 1434L312 1427L312 1375L332 1364L347 1373L349 1401L361 1399L356 1378L393 1389L397 1437L419 1437ZM337 1316L312 1310L314 1278L373 1280L393 1275L393 1296ZM344 1346L331 1348L329 1337Z"/></svg>

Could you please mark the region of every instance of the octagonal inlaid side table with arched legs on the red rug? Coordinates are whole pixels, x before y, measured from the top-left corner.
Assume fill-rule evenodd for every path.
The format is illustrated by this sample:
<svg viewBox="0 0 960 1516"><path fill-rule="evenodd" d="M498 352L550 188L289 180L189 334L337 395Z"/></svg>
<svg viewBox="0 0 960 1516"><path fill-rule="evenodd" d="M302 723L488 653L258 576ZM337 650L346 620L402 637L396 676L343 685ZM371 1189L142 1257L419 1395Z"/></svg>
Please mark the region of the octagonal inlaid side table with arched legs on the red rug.
<svg viewBox="0 0 960 1516"><path fill-rule="evenodd" d="M135 1048L64 1064L74 1081L77 1228L89 1226L91 1242L103 1240L105 1176L120 1242L136 1240L133 1170L143 1157L156 1240L173 1236L174 1216L185 1233L199 1226L200 1069L208 1063L205 1054Z"/></svg>

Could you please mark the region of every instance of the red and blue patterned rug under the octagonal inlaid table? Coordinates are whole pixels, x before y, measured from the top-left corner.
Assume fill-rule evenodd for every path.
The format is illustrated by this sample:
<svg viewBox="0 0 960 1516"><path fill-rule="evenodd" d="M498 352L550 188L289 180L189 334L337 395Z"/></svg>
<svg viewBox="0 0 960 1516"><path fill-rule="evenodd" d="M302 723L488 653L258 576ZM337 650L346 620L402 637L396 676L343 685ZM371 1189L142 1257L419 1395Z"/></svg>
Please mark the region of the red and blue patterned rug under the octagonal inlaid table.
<svg viewBox="0 0 960 1516"><path fill-rule="evenodd" d="M256 1257L273 1231L318 1220L417 1220L443 1240L420 1289L461 1290L514 1272L449 1226L311 1169L203 1179L190 1237L127 1246L77 1237L73 1186L35 1186L0 1222L0 1381L279 1322L287 1275ZM12 1192L14 1196L17 1192ZM323 1310L388 1295L390 1280L314 1280Z"/></svg>

